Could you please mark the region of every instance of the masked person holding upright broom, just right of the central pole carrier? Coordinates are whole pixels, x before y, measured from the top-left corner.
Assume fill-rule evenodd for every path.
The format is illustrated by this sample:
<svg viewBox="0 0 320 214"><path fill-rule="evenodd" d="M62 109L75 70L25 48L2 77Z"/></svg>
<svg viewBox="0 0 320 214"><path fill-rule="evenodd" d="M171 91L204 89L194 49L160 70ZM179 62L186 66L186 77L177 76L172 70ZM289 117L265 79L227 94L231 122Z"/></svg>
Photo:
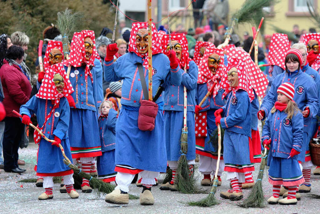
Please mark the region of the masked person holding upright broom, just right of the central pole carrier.
<svg viewBox="0 0 320 214"><path fill-rule="evenodd" d="M165 121L165 143L167 150L167 161L172 169L172 180L161 185L161 190L176 191L174 185L175 174L178 168L178 160L181 156L181 130L183 128L183 109L184 109L184 86L187 89L187 127L188 127L188 151L187 160L190 171L193 171L196 158L196 139L195 139L195 95L198 67L189 58L188 41L183 33L171 34L171 47L169 35L162 38L162 49L165 54L174 50L179 60L180 71L182 73L181 84L164 84L164 121ZM184 71L185 70L185 71Z"/></svg>

